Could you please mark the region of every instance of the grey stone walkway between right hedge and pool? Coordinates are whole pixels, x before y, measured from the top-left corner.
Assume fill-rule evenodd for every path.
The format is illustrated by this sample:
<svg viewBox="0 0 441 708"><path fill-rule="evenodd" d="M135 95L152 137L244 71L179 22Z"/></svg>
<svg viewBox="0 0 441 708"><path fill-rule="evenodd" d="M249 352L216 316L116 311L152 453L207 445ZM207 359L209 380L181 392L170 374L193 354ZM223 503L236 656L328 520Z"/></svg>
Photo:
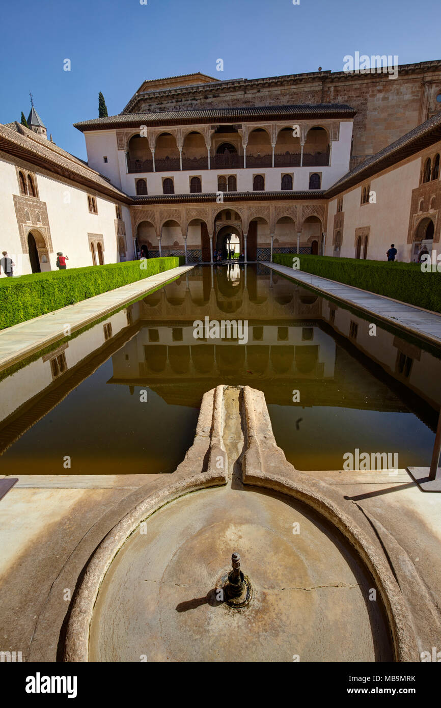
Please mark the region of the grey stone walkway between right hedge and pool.
<svg viewBox="0 0 441 708"><path fill-rule="evenodd" d="M287 275L296 282L304 282L305 285L313 287L314 290L325 296L336 297L413 335L427 339L434 344L441 344L441 315L436 312L429 312L421 307L384 297L384 295L375 295L374 292L360 290L358 287L345 285L343 282L321 278L320 275L305 273L304 270L292 270L287 265L279 265L278 263L264 263L264 265L276 270L277 273Z"/></svg>

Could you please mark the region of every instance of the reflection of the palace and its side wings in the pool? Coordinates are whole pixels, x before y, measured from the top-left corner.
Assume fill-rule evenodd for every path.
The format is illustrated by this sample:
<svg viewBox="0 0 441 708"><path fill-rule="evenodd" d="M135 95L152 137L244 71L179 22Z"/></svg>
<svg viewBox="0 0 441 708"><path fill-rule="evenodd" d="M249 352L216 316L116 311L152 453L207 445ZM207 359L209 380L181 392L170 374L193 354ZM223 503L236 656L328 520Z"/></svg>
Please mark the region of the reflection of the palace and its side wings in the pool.
<svg viewBox="0 0 441 708"><path fill-rule="evenodd" d="M247 320L248 341L195 339L193 322ZM311 290L255 266L191 270L0 382L0 452L111 357L108 384L200 406L219 383L268 404L408 411L432 426L441 360ZM386 377L384 375L389 375ZM300 401L292 401L294 389Z"/></svg>

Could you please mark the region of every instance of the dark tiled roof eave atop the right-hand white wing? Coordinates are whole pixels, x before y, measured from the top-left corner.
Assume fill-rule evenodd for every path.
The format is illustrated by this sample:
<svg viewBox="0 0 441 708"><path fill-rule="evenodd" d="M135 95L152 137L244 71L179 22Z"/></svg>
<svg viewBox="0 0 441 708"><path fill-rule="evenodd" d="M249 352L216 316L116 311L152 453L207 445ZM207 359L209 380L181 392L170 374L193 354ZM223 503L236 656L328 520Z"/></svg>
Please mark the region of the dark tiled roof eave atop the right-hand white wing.
<svg viewBox="0 0 441 708"><path fill-rule="evenodd" d="M425 147L430 147L433 143L441 140L441 111L432 118L425 120L421 125L417 125L410 132L403 135L395 142L376 154L360 162L350 172L346 173L338 182L326 190L326 198L333 197L345 189L364 181L365 179L381 172L406 157L409 157Z"/></svg>

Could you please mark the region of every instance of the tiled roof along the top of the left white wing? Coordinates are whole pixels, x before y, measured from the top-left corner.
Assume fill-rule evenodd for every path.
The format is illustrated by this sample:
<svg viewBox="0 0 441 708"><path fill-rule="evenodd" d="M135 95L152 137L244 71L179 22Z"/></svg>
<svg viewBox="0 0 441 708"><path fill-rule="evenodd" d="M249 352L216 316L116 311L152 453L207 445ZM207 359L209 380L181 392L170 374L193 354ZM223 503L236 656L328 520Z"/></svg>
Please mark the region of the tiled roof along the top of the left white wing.
<svg viewBox="0 0 441 708"><path fill-rule="evenodd" d="M18 122L0 124L0 150L130 204L132 200L84 161Z"/></svg>

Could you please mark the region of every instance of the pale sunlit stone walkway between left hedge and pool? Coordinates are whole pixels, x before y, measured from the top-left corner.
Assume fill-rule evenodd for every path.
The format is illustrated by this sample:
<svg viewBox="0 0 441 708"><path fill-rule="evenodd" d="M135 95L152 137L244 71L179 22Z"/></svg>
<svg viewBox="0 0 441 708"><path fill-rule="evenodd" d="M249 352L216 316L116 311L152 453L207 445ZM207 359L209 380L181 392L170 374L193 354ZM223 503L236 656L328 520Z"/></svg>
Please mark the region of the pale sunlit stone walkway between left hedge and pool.
<svg viewBox="0 0 441 708"><path fill-rule="evenodd" d="M194 265L181 265L165 270L164 273L150 275L149 278L122 285L115 290L89 297L74 305L62 307L40 317L16 324L0 331L0 370L20 361L25 356L42 349L48 344L66 336L66 326L74 332L94 319L122 307L132 300L147 295L151 290L183 275Z"/></svg>

